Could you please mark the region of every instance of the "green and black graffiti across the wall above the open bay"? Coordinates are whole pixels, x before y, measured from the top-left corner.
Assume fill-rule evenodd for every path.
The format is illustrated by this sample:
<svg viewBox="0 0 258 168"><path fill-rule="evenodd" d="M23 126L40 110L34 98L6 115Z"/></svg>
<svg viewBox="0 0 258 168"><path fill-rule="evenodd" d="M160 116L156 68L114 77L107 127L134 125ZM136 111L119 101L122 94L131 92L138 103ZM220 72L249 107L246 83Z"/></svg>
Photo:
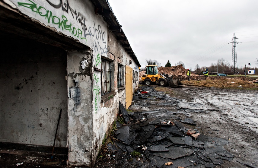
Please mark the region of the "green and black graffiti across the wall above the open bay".
<svg viewBox="0 0 258 168"><path fill-rule="evenodd" d="M76 9L73 9L69 5L69 0L45 1L53 8L61 9L64 14L61 17L58 17L53 14L55 12L36 4L32 0L27 0L27 2L18 2L18 6L29 8L32 12L43 17L48 23L57 25L60 30L68 30L75 38L85 40L85 43L87 42L87 37L95 37L94 42L92 42L94 52L100 52L101 55L108 54L109 47L106 45L107 35L100 24L95 24L95 21L93 21L93 25L91 25L91 23L87 23L83 14L80 11L76 11ZM65 13L71 14L74 20L68 20ZM81 25L81 28L73 26L74 24L72 22L76 22L76 25Z"/></svg>

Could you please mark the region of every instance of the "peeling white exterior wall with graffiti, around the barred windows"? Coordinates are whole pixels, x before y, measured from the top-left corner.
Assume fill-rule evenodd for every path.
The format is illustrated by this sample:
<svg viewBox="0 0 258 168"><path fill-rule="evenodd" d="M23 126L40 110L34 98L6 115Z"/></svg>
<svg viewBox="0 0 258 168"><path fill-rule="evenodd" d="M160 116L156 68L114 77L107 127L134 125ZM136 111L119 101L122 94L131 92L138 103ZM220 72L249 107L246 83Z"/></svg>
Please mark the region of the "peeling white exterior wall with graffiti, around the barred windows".
<svg viewBox="0 0 258 168"><path fill-rule="evenodd" d="M118 91L117 88L117 65L123 65L125 72L125 65L138 71L137 64L108 30L102 16L95 14L89 0L9 0L9 5L49 27L49 31L70 36L91 48L68 51L65 87L68 95L69 163L91 166L105 133L119 113L119 101L125 104L125 90ZM111 61L110 99L101 97L101 58ZM125 86L124 74L123 82ZM135 90L135 83L133 87Z"/></svg>

